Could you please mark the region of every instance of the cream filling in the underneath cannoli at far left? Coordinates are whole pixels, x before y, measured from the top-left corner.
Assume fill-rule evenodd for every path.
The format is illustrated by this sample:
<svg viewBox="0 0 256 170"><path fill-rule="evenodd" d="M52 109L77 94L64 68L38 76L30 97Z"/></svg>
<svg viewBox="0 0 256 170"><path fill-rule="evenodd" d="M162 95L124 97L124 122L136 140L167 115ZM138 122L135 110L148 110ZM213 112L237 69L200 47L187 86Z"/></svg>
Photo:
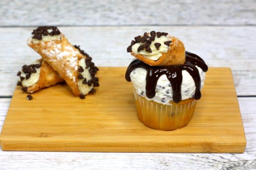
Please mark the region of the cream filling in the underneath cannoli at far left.
<svg viewBox="0 0 256 170"><path fill-rule="evenodd" d="M31 64L40 64L40 60L36 60L35 62L31 63ZM30 77L26 80L26 73L24 73L21 70L21 75L22 77L24 77L24 80L22 80L21 84L23 87L30 87L32 85L34 85L35 83L38 82L39 78L40 78L40 68L35 68L36 69L36 73L31 73ZM21 81L21 78L19 77L19 81Z"/></svg>

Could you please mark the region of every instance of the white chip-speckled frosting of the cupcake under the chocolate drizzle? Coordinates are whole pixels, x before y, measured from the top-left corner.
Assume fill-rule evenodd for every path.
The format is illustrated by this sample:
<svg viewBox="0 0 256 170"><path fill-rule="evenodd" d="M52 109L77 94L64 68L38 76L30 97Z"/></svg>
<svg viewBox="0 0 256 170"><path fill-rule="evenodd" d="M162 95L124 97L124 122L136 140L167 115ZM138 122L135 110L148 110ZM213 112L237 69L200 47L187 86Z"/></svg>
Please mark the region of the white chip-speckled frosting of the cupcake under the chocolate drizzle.
<svg viewBox="0 0 256 170"><path fill-rule="evenodd" d="M201 78L201 89L204 86L205 72L198 66L196 68L199 71ZM153 100L157 103L168 104L170 101L173 101L173 90L171 88L170 81L167 79L166 75L159 77L156 85L156 95L149 99L146 96L146 75L147 70L144 68L136 68L131 71L130 78L133 83L133 87L138 95L145 97L147 100ZM182 100L192 98L195 94L195 82L189 72L182 71L182 86L181 86L181 95Z"/></svg>

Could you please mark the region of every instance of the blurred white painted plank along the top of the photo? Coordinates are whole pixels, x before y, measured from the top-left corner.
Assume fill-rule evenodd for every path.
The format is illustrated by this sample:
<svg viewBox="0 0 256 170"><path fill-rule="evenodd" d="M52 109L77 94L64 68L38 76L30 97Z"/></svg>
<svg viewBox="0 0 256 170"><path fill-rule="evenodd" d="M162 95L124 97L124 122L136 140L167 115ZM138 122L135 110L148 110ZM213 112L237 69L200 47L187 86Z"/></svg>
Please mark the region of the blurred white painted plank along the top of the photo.
<svg viewBox="0 0 256 170"><path fill-rule="evenodd" d="M0 26L256 24L254 0L1 0Z"/></svg>

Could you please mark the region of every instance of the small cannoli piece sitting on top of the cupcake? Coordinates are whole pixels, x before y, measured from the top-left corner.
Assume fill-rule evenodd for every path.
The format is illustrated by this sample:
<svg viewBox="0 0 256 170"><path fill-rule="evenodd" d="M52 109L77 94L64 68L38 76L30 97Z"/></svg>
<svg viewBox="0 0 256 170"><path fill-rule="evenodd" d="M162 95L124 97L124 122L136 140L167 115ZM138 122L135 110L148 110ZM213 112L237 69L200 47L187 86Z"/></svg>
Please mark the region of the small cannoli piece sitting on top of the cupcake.
<svg viewBox="0 0 256 170"><path fill-rule="evenodd" d="M166 32L145 32L131 41L127 52L151 66L168 66L185 63L185 47L176 37Z"/></svg>

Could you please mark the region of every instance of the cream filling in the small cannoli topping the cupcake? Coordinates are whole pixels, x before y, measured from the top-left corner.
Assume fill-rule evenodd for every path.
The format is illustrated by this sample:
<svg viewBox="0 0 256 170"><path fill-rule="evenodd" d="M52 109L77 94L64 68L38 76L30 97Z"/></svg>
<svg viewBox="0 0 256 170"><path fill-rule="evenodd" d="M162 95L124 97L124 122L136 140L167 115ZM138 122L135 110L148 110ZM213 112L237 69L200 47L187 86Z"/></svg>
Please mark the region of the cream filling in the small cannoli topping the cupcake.
<svg viewBox="0 0 256 170"><path fill-rule="evenodd" d="M149 37L150 37L150 35L149 35ZM163 53L167 53L168 49L170 48L169 46L164 44L165 41L170 41L169 35L161 36L159 38L156 35L155 40L152 41L149 46L152 53L147 52L145 49L138 52L138 47L142 44L145 44L145 42L144 43L138 42L138 43L134 44L131 47L131 51L135 54L142 54L145 58L152 59L152 60L156 61L163 55ZM154 45L156 42L161 44L161 46L159 47L159 50L157 50L156 46Z"/></svg>

